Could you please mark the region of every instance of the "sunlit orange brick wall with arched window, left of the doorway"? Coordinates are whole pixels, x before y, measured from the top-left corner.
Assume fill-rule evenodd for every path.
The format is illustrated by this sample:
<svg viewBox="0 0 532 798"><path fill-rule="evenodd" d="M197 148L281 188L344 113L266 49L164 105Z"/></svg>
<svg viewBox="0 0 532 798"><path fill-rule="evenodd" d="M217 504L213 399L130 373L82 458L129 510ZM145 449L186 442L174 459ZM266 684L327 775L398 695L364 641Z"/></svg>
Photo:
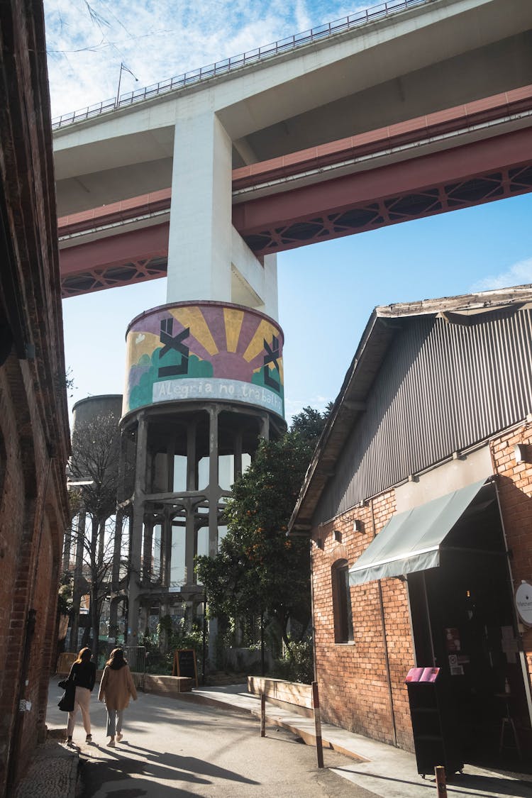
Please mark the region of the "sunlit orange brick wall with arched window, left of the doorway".
<svg viewBox="0 0 532 798"><path fill-rule="evenodd" d="M408 693L404 686L413 662L405 583L384 579L381 583L374 581L352 587L353 643L336 643L334 638L334 563L346 559L353 564L394 511L394 493L386 492L368 506L346 512L314 530L313 541L323 540L322 549L315 544L312 549L316 667L325 721L376 740L397 741L401 747L412 749ZM355 520L361 523L362 531L353 530ZM340 543L334 540L333 530L341 532Z"/></svg>

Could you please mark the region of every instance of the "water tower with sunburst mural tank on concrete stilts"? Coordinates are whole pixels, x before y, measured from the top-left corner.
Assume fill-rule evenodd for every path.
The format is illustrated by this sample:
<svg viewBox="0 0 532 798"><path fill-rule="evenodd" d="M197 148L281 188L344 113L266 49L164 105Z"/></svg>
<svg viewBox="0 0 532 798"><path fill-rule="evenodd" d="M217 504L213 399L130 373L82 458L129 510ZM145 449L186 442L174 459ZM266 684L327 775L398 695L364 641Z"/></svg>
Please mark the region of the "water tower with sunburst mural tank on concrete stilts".
<svg viewBox="0 0 532 798"><path fill-rule="evenodd" d="M201 604L195 555L216 554L231 485L258 440L279 437L286 424L283 334L266 314L173 302L134 318L126 341L119 506L131 531L134 644L150 614Z"/></svg>

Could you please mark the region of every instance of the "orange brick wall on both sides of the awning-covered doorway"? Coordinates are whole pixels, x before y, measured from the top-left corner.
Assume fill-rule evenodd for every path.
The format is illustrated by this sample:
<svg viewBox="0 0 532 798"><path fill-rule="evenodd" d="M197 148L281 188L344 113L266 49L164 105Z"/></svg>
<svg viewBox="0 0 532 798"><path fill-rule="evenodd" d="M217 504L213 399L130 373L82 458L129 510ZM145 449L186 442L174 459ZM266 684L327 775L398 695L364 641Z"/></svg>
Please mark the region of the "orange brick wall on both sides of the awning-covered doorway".
<svg viewBox="0 0 532 798"><path fill-rule="evenodd" d="M511 551L514 589L522 579L532 582L532 462L516 463L515 444L529 446L526 460L532 460L532 424L523 424L491 440L502 519ZM334 637L333 565L340 559L352 565L393 512L394 492L389 491L368 506L353 508L313 530L317 679L325 721L377 740L396 741L401 748L413 750L408 693L404 685L404 678L414 662L406 583L383 579L380 583L372 581L352 587L354 641L352 644L336 643ZM353 530L355 520L361 523L362 531ZM341 542L335 541L334 530L341 532ZM323 541L323 548L317 547L317 539ZM532 629L523 629L523 645L532 678Z"/></svg>

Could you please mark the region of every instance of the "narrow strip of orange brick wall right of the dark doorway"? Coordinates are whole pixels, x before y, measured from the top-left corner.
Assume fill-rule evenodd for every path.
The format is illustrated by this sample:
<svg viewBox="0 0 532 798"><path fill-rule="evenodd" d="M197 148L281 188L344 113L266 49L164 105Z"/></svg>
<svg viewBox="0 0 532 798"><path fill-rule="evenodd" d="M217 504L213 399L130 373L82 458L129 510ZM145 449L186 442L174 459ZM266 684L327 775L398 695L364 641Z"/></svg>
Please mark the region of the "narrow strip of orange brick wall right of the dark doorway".
<svg viewBox="0 0 532 798"><path fill-rule="evenodd" d="M511 551L510 568L514 591L522 579L532 582L532 463L516 463L515 444L525 444L532 454L532 424L491 440L491 457L498 475L499 500ZM527 460L532 460L530 454ZM532 629L523 627L523 646L532 677Z"/></svg>

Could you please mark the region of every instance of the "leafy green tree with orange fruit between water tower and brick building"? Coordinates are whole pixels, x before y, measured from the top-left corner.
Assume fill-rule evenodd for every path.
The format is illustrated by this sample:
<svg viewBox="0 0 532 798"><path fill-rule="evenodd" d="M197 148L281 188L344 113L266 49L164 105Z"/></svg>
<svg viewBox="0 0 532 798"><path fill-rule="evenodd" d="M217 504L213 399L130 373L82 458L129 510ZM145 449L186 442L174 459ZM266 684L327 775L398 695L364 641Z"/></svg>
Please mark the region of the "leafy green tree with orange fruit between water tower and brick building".
<svg viewBox="0 0 532 798"><path fill-rule="evenodd" d="M280 440L262 440L250 468L234 483L227 503L227 535L214 559L199 557L209 612L230 618L259 614L274 620L289 656L310 619L309 543L288 537L298 498L326 413L305 408Z"/></svg>

